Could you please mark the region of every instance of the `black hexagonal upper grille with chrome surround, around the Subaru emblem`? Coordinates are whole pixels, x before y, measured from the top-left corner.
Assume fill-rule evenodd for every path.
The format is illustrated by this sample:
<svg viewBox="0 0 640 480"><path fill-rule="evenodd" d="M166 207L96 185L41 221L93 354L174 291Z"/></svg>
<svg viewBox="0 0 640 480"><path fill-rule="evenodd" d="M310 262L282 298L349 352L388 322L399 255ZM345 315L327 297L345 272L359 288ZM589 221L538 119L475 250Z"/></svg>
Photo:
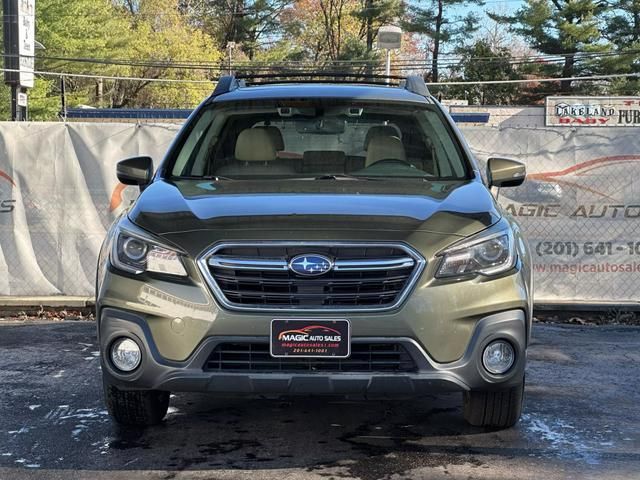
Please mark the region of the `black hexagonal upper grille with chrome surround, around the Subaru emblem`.
<svg viewBox="0 0 640 480"><path fill-rule="evenodd" d="M298 255L323 255L333 268L302 276L289 268ZM423 261L401 245L228 245L204 257L201 268L229 308L393 308L421 271Z"/></svg>

